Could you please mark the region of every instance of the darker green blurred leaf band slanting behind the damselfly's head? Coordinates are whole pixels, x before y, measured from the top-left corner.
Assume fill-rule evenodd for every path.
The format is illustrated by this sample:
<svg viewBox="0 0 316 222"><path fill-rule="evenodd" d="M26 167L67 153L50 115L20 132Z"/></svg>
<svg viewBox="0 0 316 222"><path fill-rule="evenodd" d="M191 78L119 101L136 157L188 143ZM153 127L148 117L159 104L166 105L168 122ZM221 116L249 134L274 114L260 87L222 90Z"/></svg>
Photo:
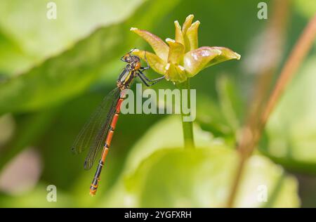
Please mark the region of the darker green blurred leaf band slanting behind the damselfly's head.
<svg viewBox="0 0 316 222"><path fill-rule="evenodd" d="M136 37L129 27L150 27L176 4L177 1L147 1L129 20L100 28L68 51L0 83L0 114L37 110L81 93L112 60L133 46Z"/></svg>

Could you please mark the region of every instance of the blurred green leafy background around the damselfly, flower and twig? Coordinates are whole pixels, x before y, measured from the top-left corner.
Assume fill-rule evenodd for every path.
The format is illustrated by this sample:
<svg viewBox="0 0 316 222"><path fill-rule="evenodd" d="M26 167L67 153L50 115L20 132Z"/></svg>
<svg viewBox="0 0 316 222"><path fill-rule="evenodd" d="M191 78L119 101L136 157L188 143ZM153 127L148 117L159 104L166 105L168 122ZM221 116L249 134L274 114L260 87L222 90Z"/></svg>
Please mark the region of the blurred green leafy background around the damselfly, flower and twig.
<svg viewBox="0 0 316 222"><path fill-rule="evenodd" d="M265 1L267 20L257 18L257 0L55 0L56 20L46 18L48 2L0 2L0 207L225 207L256 79L275 53L278 73L315 1L289 1L287 22L277 27L282 46L272 51L265 51L274 41L265 38L267 27L284 15L272 16L275 1ZM190 14L201 22L199 46L242 55L192 78L197 149L182 148L178 115L121 115L90 197L95 166L84 171L85 155L70 147L114 88L121 55L151 51L129 28L173 39L173 21ZM234 207L316 207L315 45L298 72L246 163ZM48 185L56 186L57 202L46 200ZM267 202L258 201L261 185Z"/></svg>

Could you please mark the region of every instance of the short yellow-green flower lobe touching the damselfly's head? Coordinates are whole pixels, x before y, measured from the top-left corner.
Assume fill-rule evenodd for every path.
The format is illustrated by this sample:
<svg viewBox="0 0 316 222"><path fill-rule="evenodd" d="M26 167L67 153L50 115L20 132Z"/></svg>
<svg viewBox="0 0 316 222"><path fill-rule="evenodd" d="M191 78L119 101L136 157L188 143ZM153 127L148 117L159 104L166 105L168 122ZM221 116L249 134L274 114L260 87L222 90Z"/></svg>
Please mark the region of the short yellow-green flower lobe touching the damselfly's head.
<svg viewBox="0 0 316 222"><path fill-rule="evenodd" d="M166 62L164 60L159 58L154 53L150 53L147 51L141 51L138 49L133 51L134 55L137 55L139 58L141 58L144 61L146 61L145 53L146 53L147 61L150 65L150 67L152 68L152 70L154 70L154 72L157 72L159 74L165 74L164 68L166 67Z"/></svg>

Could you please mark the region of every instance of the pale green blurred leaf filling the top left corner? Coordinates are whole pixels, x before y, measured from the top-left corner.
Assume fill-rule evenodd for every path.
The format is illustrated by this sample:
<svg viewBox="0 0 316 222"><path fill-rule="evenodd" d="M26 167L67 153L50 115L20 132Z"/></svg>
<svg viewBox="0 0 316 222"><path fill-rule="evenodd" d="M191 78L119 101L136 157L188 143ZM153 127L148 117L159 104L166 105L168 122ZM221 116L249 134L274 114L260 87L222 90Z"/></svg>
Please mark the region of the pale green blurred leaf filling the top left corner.
<svg viewBox="0 0 316 222"><path fill-rule="evenodd" d="M0 30L17 48L14 57L3 55L3 71L25 71L51 55L71 48L79 39L101 26L121 22L131 16L143 0L56 0L56 19L48 19L53 10L49 1L4 0L0 2ZM2 48L0 44L0 51ZM0 63L1 65L1 63ZM1 66L0 66L1 70Z"/></svg>

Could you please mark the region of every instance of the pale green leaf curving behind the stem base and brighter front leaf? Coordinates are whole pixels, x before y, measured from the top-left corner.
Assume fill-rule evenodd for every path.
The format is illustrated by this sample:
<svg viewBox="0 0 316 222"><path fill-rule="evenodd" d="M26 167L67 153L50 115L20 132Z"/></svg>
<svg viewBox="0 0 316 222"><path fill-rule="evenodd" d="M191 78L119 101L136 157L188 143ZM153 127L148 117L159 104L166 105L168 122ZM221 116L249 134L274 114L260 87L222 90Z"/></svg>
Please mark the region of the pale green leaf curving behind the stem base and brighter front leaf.
<svg viewBox="0 0 316 222"><path fill-rule="evenodd" d="M126 175L133 173L143 162L152 155L153 152L161 148L177 148L183 146L183 131L182 124L180 122L180 115L166 117L154 124L147 132L143 135L140 140L133 145L131 152L126 159L124 169L122 170L121 176L117 181L114 188L108 193L107 200L100 201L100 206L103 207L119 207L121 202L129 202L129 197L125 197L125 188L123 185L124 178ZM222 145L223 141L213 140L211 133L202 131L198 126L193 125L195 133L195 142L199 145L212 144ZM163 139L162 139L163 138Z"/></svg>

